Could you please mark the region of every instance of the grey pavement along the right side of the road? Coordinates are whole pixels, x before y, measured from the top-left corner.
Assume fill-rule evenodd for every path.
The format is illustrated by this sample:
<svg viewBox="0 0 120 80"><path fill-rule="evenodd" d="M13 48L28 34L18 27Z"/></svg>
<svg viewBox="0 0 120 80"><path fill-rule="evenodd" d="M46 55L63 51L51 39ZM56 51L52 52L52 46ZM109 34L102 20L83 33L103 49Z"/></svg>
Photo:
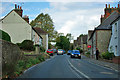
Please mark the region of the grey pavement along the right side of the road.
<svg viewBox="0 0 120 80"><path fill-rule="evenodd" d="M96 59L93 59L93 58L88 58L84 55L82 55L82 57L83 57L84 60L87 60L90 63L96 64L96 65L99 65L99 66L103 66L105 68L109 68L109 69L114 70L116 72L120 71L120 64L108 62L108 61L105 61L105 60L102 60L102 59L96 60Z"/></svg>

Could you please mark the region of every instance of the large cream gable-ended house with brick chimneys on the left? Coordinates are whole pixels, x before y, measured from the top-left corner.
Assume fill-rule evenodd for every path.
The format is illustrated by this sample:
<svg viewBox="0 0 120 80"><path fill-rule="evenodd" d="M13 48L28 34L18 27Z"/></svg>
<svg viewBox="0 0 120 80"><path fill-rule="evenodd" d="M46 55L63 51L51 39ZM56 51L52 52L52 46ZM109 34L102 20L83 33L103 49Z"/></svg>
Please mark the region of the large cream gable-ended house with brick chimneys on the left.
<svg viewBox="0 0 120 80"><path fill-rule="evenodd" d="M28 16L23 15L21 7L15 5L10 13L0 20L1 30L7 32L11 37L12 43L21 43L24 40L31 40L32 27L29 25Z"/></svg>

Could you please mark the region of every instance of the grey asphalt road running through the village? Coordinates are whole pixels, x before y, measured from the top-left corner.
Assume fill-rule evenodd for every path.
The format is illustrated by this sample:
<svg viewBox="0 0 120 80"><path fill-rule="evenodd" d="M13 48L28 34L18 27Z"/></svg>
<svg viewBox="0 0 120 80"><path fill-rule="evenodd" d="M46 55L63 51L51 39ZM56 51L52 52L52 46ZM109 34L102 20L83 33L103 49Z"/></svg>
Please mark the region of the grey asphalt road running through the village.
<svg viewBox="0 0 120 80"><path fill-rule="evenodd" d="M54 55L24 72L21 78L118 78L118 72L69 55ZM106 80L106 79L105 79ZM110 79L108 79L110 80Z"/></svg>

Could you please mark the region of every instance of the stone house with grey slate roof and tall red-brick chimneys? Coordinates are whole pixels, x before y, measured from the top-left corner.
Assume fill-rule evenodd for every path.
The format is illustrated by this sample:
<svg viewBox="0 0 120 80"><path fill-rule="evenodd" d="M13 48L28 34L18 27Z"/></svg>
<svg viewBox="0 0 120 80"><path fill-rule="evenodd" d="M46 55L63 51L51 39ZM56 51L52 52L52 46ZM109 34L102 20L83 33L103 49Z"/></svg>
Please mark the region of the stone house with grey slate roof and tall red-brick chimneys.
<svg viewBox="0 0 120 80"><path fill-rule="evenodd" d="M96 52L96 48L99 49L99 52L106 52L108 50L109 41L111 38L111 29L109 28L111 23L116 19L116 14L120 11L120 7L118 4L118 8L105 8L105 15L101 16L101 24L96 27L89 38L91 44L91 54L94 56ZM95 57L95 56L94 56Z"/></svg>

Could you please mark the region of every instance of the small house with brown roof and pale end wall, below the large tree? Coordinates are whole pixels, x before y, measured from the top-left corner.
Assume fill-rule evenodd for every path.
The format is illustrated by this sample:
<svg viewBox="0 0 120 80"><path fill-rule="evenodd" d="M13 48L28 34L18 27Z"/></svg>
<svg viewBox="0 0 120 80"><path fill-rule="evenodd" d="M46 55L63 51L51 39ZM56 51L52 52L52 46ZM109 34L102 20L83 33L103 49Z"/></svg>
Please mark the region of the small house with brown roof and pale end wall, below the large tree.
<svg viewBox="0 0 120 80"><path fill-rule="evenodd" d="M47 50L48 49L48 33L43 31L39 27L33 27L33 30L35 30L42 37L42 45L45 48L45 50Z"/></svg>

